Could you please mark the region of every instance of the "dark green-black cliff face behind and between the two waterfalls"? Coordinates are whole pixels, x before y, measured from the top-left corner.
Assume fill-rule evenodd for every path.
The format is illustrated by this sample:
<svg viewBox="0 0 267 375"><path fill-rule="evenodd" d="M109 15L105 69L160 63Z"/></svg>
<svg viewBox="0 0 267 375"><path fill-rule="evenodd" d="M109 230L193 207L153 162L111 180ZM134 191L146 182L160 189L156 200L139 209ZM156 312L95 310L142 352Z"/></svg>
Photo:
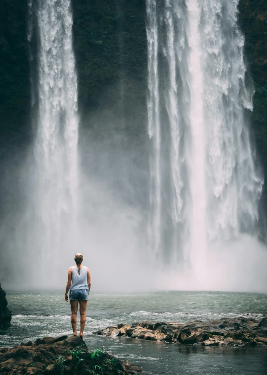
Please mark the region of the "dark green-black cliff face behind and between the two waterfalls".
<svg viewBox="0 0 267 375"><path fill-rule="evenodd" d="M27 2L0 3L1 161L25 152L32 140ZM254 111L248 115L267 176L267 3L241 0L239 5L246 58L256 88ZM142 149L143 160L147 159L145 0L72 0L72 7L80 141L83 144L86 129L98 144L108 140L113 148L119 146L118 159L129 147L133 154Z"/></svg>

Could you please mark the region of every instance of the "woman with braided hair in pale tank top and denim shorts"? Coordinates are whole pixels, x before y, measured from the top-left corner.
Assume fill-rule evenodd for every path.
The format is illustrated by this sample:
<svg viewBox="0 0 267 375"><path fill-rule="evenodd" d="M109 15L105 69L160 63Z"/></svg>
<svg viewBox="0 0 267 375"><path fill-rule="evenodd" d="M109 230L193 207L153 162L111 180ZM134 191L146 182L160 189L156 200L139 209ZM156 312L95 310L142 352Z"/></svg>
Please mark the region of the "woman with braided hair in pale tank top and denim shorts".
<svg viewBox="0 0 267 375"><path fill-rule="evenodd" d="M68 302L68 291L70 290L71 325L74 336L77 336L77 311L78 303L80 304L80 337L83 338L86 323L86 307L91 287L91 276L89 269L86 266L82 266L84 257L81 253L78 252L75 255L74 260L76 265L68 269L68 282L66 286L65 301Z"/></svg>

